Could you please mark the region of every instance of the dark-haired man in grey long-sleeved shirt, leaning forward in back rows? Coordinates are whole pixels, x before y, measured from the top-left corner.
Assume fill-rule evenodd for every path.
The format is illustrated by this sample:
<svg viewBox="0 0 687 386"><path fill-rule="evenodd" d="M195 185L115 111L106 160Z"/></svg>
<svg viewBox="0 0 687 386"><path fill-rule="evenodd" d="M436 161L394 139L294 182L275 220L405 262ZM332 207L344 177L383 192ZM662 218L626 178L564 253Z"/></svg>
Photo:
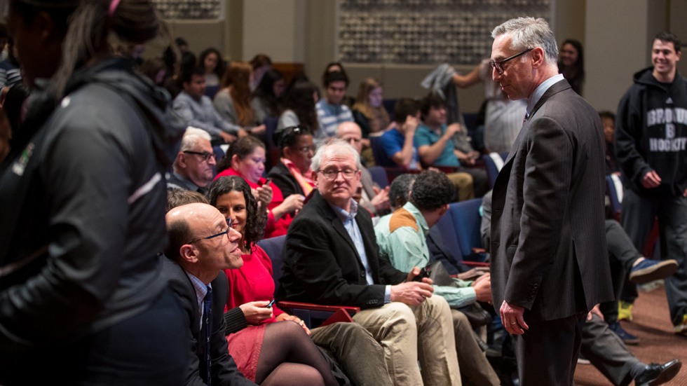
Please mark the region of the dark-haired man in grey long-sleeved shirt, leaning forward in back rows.
<svg viewBox="0 0 687 386"><path fill-rule="evenodd" d="M237 136L247 135L243 128L219 116L212 99L205 95L205 71L202 68L182 71L181 81L183 90L175 97L173 106L187 125L203 129L213 139L222 139L224 142L233 142Z"/></svg>

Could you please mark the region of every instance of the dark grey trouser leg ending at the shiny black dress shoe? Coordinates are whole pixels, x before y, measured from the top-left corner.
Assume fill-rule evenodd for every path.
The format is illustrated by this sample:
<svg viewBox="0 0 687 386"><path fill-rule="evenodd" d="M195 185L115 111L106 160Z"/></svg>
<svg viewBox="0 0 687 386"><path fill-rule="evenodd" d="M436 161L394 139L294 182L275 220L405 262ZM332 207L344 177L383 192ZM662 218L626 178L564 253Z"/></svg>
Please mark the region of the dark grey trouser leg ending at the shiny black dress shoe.
<svg viewBox="0 0 687 386"><path fill-rule="evenodd" d="M616 386L630 385L632 366L639 359L627 350L623 340L608 329L608 324L597 315L587 320L582 329L580 352Z"/></svg>

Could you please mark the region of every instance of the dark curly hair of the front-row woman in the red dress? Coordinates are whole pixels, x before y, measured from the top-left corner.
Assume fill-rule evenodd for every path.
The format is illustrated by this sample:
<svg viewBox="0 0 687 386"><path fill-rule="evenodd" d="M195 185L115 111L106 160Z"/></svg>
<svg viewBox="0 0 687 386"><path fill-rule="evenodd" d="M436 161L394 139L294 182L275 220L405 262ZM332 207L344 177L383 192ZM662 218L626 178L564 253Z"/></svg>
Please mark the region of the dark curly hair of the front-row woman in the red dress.
<svg viewBox="0 0 687 386"><path fill-rule="evenodd" d="M253 244L261 240L264 236L267 214L264 211L258 211L257 201L253 197L253 193L250 191L248 183L238 176L219 177L215 181L212 181L210 185L210 189L208 190L208 201L210 201L210 205L217 207L217 199L232 191L243 193L246 207L243 240L247 249L252 249Z"/></svg>

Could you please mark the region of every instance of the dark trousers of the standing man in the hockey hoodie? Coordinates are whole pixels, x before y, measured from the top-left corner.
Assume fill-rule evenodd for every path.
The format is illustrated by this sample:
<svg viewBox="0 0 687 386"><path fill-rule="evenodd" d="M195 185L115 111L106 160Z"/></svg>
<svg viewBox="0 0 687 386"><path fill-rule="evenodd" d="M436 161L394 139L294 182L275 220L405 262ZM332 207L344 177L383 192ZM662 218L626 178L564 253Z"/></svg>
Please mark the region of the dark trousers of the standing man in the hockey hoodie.
<svg viewBox="0 0 687 386"><path fill-rule="evenodd" d="M677 271L665 279L670 319L677 325L687 314L687 198L681 195L641 198L632 189L625 189L623 228L639 251L644 250L655 216L658 216L659 226L665 230L667 254L661 251L662 258L677 261Z"/></svg>

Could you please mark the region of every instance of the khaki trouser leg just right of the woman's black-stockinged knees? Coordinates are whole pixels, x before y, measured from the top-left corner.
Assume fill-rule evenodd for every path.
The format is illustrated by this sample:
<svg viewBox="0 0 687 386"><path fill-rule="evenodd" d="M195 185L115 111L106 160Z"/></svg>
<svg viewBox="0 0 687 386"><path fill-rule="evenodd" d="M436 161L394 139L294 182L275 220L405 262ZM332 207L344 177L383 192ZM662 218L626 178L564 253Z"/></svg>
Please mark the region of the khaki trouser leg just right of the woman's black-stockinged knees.
<svg viewBox="0 0 687 386"><path fill-rule="evenodd" d="M384 350L358 323L334 323L311 330L315 345L334 354L341 369L357 386L390 386Z"/></svg>

